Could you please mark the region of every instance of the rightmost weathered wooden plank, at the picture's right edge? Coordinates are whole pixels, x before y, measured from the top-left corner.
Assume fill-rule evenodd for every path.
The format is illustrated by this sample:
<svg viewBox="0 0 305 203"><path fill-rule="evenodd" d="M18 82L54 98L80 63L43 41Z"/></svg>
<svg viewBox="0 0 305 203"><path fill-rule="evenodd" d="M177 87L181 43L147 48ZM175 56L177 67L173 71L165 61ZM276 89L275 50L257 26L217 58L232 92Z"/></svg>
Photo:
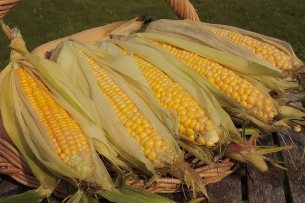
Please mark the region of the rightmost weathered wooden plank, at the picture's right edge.
<svg viewBox="0 0 305 203"><path fill-rule="evenodd" d="M288 193L290 201L293 203L305 202L305 177L301 178L301 156L305 146L305 135L288 131L288 134L279 133L279 144L281 146L294 144L295 146L289 151L283 151L283 161L285 167L289 170L285 172L288 183ZM305 173L305 166L302 166Z"/></svg>

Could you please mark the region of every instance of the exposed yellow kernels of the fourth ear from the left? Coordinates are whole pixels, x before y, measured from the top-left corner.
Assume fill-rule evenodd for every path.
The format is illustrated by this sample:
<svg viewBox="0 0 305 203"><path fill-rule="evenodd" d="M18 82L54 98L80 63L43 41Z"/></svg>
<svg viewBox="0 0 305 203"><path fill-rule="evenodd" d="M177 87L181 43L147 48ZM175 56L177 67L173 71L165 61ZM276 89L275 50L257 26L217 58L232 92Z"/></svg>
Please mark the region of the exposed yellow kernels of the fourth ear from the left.
<svg viewBox="0 0 305 203"><path fill-rule="evenodd" d="M251 114L256 115L263 121L271 120L275 117L276 110L272 100L246 79L240 78L221 64L200 57L197 54L168 44L157 43L191 69L205 77L238 104L252 109Z"/></svg>

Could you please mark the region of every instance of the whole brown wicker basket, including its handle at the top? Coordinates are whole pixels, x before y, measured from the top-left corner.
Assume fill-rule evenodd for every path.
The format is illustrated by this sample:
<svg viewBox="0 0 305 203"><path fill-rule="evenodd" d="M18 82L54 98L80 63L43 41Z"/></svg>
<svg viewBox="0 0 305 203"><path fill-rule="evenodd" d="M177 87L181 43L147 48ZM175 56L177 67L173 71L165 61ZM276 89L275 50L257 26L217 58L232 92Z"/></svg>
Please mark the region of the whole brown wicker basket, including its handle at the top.
<svg viewBox="0 0 305 203"><path fill-rule="evenodd" d="M19 2L20 0L0 0L0 20ZM173 9L175 14L180 19L192 19L199 21L198 15L189 2L189 0L165 0ZM215 183L226 176L233 173L238 168L238 163L225 158L219 163L205 165L202 161L193 157L191 154L186 154L186 160L195 168L195 171L202 178L204 184ZM8 137L1 119L0 113L0 173L11 176L19 183L38 188L40 182L33 175L31 169L27 166L25 159L21 153L14 147L14 144ZM134 175L127 184L143 189L145 180ZM173 193L188 191L185 183L174 178L159 178L156 182L145 188L146 191L153 193ZM65 182L60 182L55 190L54 195L65 198L67 196Z"/></svg>

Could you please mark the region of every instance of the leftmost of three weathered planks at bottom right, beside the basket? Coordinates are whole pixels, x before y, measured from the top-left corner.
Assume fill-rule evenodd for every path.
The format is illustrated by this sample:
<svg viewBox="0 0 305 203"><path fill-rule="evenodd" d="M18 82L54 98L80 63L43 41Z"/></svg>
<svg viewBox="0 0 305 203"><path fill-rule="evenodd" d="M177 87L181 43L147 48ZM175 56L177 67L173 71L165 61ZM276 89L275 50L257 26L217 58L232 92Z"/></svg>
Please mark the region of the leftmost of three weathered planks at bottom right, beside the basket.
<svg viewBox="0 0 305 203"><path fill-rule="evenodd" d="M238 170L217 183L207 185L207 193L212 203L241 203L241 182Z"/></svg>

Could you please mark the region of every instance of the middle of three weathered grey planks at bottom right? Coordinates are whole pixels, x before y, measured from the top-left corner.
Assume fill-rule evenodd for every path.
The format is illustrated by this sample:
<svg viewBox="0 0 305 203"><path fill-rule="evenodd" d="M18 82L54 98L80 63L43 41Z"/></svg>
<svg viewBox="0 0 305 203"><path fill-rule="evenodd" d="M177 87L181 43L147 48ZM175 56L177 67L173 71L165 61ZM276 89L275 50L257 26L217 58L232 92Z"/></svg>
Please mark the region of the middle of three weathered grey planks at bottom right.
<svg viewBox="0 0 305 203"><path fill-rule="evenodd" d="M272 135L260 139L260 145L274 146ZM277 159L276 153L267 154L266 157ZM261 173L255 166L247 164L248 198L250 203L268 202L285 203L283 179L280 174L272 172Z"/></svg>

